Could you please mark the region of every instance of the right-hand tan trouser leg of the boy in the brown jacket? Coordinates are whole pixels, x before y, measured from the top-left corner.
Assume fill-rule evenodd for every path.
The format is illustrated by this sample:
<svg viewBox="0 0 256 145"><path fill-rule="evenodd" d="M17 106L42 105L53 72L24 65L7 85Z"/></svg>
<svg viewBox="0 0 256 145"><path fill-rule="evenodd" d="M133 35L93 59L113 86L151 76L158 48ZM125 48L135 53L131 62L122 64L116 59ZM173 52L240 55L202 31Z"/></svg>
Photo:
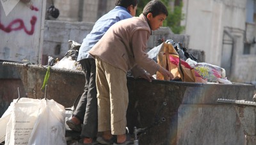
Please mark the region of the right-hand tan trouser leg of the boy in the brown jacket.
<svg viewBox="0 0 256 145"><path fill-rule="evenodd" d="M101 68L104 70L104 83L106 83L106 81L108 82L108 97L110 98L110 100L108 98L108 101L110 102L108 107L111 111L108 113L109 116L111 115L111 133L113 135L125 134L125 127L127 125L126 111L128 107L126 73L124 70L116 68L109 63L105 63L100 59L98 60L99 63L102 64ZM100 99L100 96L98 96L98 100Z"/></svg>

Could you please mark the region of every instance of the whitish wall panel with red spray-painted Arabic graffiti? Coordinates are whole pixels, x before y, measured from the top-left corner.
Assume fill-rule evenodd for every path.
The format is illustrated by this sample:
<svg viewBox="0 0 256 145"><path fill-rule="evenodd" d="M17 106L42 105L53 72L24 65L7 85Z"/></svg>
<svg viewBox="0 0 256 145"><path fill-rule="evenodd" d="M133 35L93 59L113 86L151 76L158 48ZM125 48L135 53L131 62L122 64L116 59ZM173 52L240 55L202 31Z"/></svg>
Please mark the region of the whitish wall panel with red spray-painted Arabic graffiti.
<svg viewBox="0 0 256 145"><path fill-rule="evenodd" d="M42 59L40 38L43 36L41 30L44 28L45 19L42 13L45 11L45 1L35 0L33 5L19 1L8 15L4 13L4 8L8 6L3 3L0 4L0 59L8 61L28 59L32 63L40 63Z"/></svg>

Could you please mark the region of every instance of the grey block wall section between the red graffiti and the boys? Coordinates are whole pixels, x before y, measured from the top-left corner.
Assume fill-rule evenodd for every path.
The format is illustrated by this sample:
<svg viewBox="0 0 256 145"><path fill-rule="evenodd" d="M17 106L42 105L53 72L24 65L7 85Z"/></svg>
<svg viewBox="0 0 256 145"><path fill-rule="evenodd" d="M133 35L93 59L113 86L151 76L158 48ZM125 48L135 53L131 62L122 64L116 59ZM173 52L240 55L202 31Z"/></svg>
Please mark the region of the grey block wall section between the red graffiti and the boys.
<svg viewBox="0 0 256 145"><path fill-rule="evenodd" d="M43 64L48 56L62 58L68 50L68 40L82 43L92 30L93 23L45 20Z"/></svg>

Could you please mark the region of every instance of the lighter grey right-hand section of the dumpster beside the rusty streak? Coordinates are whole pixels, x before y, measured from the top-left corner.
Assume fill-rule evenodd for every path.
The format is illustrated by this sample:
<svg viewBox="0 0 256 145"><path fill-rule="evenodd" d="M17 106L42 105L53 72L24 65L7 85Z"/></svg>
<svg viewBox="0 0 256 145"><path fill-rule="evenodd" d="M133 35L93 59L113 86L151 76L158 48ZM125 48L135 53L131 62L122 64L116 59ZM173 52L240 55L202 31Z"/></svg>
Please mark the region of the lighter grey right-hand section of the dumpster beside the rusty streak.
<svg viewBox="0 0 256 145"><path fill-rule="evenodd" d="M244 144L244 130L250 128L248 132L254 130L255 135L255 111L247 112L253 116L245 123L237 115L234 105L223 105L217 100L252 101L253 90L252 85L238 83L188 88L178 111L177 144Z"/></svg>

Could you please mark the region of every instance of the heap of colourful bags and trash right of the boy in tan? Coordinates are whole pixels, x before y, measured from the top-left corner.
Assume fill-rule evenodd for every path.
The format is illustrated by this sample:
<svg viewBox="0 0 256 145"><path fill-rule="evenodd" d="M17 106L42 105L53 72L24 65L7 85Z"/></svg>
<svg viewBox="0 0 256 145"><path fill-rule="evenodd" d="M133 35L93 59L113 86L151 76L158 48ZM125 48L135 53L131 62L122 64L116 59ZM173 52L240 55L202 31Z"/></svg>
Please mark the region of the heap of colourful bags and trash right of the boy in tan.
<svg viewBox="0 0 256 145"><path fill-rule="evenodd" d="M147 54L148 57L169 70L175 81L232 84L230 80L227 80L224 68L198 62L193 54L174 40L166 40L149 50ZM154 77L164 80L159 72Z"/></svg>

